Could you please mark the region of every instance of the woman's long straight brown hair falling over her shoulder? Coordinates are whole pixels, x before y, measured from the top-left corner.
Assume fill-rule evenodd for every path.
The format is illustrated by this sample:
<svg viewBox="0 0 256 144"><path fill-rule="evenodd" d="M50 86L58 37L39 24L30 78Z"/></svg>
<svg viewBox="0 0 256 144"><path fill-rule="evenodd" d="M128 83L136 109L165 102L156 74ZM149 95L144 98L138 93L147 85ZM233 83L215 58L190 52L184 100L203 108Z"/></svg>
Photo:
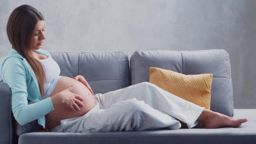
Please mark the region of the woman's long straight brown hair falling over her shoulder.
<svg viewBox="0 0 256 144"><path fill-rule="evenodd" d="M42 14L30 5L21 5L13 10L11 13L6 32L8 39L14 48L21 56L23 56L29 63L30 67L37 78L40 94L43 99L45 82L45 72L41 63L33 57L33 53L29 50L29 46L34 33L37 21L45 20Z"/></svg>

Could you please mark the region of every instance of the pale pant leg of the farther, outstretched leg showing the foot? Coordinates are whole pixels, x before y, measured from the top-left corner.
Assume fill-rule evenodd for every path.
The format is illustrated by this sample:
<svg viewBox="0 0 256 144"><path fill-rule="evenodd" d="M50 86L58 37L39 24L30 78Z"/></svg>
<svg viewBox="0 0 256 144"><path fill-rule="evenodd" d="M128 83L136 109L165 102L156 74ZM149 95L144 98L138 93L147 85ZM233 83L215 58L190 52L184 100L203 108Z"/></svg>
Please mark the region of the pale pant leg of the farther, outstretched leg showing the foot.
<svg viewBox="0 0 256 144"><path fill-rule="evenodd" d="M97 95L99 96L98 102L101 109L107 109L118 101L136 98L164 114L181 120L187 124L188 128L192 128L199 123L196 120L205 109L205 107L200 107L181 99L148 82L131 85L104 94L98 93Z"/></svg>

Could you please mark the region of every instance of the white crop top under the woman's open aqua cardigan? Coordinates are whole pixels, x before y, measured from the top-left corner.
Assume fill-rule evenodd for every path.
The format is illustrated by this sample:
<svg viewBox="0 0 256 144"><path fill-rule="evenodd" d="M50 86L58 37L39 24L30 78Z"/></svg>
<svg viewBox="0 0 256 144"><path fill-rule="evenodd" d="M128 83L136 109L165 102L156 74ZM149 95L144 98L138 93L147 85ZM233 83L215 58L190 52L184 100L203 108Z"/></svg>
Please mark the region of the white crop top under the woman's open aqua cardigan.
<svg viewBox="0 0 256 144"><path fill-rule="evenodd" d="M47 59L38 59L43 66L45 72L46 83L44 83L44 99L48 98L53 92L59 78L61 69L59 65L48 57Z"/></svg>

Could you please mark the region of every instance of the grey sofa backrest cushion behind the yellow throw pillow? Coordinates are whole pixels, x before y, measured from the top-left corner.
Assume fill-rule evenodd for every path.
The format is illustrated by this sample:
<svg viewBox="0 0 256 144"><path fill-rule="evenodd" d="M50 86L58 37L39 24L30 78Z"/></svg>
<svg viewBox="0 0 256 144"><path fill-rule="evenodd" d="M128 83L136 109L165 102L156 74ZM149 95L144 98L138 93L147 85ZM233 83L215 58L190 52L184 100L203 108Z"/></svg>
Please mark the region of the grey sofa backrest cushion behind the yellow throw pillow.
<svg viewBox="0 0 256 144"><path fill-rule="evenodd" d="M185 75L213 74L211 110L233 117L229 54L222 49L203 51L136 51L131 56L131 84L149 82L149 67Z"/></svg>

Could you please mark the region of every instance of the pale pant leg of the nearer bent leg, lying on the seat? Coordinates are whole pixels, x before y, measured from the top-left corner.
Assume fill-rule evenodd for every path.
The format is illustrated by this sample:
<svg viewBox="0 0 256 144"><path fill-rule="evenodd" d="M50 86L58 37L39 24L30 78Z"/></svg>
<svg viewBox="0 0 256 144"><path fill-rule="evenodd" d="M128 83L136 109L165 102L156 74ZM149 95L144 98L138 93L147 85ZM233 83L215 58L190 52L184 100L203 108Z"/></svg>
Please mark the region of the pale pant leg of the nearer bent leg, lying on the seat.
<svg viewBox="0 0 256 144"><path fill-rule="evenodd" d="M76 121L76 128L73 124L70 124L72 128L68 128L67 125L64 126L66 132L174 130L181 127L179 121L174 117L166 115L136 98L118 101L107 109L99 109L86 118Z"/></svg>

